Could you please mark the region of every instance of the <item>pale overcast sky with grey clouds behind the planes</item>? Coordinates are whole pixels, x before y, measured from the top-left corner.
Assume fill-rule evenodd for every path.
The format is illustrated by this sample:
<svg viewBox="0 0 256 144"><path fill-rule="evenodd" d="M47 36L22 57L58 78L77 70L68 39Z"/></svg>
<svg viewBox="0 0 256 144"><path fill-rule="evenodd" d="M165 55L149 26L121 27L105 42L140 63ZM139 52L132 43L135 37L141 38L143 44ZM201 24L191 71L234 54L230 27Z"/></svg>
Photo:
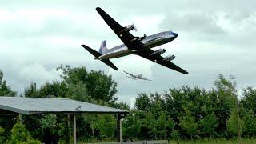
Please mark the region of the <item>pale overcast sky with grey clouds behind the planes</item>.
<svg viewBox="0 0 256 144"><path fill-rule="evenodd" d="M95 8L102 7L122 26L135 23L135 36L173 30L178 38L166 45L180 74L130 55L115 58L110 70L84 50L122 44ZM0 70L13 90L23 93L33 81L59 80L60 64L104 70L118 82L120 102L132 103L138 92L163 92L183 85L210 89L218 74L236 77L238 88L255 86L256 2L252 0L158 1L1 1ZM158 48L159 48L158 47ZM156 48L157 49L157 48ZM163 55L166 55L163 54ZM152 82L133 81L122 70L143 74Z"/></svg>

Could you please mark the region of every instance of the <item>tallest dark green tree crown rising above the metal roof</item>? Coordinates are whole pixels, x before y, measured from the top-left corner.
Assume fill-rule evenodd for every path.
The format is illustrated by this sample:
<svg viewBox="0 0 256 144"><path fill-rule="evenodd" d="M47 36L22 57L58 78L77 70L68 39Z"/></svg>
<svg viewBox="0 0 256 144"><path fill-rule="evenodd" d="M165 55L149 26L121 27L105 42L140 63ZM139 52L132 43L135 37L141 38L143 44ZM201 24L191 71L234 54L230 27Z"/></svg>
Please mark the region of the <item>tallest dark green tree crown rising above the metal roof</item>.
<svg viewBox="0 0 256 144"><path fill-rule="evenodd" d="M70 66L59 66L57 70L62 70L62 79L67 86L81 83L86 86L86 94L90 98L97 101L114 103L117 98L114 94L117 93L117 83L114 82L111 75L107 75L102 71L91 70L89 73L86 67L80 66L71 68ZM81 85L80 85L81 86Z"/></svg>

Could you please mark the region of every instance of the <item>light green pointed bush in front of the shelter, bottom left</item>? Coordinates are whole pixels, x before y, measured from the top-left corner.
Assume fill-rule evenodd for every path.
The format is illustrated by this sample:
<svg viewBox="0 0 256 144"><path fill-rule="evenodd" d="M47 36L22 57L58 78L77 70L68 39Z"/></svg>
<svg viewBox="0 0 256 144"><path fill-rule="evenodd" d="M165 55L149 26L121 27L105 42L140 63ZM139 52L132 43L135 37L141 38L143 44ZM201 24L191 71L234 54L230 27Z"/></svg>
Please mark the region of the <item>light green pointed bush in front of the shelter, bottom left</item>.
<svg viewBox="0 0 256 144"><path fill-rule="evenodd" d="M16 143L30 143L30 144L40 144L41 142L34 140L29 131L26 130L25 126L22 122L17 122L13 129L11 130L11 136L8 143L16 144Z"/></svg>

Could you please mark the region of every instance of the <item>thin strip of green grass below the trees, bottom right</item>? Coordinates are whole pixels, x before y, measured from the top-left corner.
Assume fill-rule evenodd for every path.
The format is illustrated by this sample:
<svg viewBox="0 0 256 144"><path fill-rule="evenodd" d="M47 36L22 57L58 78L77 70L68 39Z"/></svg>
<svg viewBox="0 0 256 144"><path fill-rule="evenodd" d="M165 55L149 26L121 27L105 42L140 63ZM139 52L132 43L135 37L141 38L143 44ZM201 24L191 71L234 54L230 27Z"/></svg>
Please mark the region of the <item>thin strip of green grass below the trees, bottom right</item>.
<svg viewBox="0 0 256 144"><path fill-rule="evenodd" d="M206 140L194 140L194 141L171 141L170 144L174 143L184 143L184 144L190 144L190 143L197 143L197 144L215 144L215 143L221 143L221 144L233 144L238 143L237 139L206 139ZM241 141L242 144L256 144L256 138L242 138Z"/></svg>

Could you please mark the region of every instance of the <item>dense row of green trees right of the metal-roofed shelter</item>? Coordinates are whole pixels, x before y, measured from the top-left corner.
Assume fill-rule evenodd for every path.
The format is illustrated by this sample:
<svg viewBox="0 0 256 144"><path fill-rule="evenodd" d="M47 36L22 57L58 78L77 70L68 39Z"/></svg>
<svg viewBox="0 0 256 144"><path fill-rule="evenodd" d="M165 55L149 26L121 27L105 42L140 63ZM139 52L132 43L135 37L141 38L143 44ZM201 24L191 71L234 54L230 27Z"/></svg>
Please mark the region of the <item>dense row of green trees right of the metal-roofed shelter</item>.
<svg viewBox="0 0 256 144"><path fill-rule="evenodd" d="M256 90L238 98L234 76L222 74L214 88L182 86L162 94L138 94L123 126L126 138L253 138L256 134Z"/></svg>

